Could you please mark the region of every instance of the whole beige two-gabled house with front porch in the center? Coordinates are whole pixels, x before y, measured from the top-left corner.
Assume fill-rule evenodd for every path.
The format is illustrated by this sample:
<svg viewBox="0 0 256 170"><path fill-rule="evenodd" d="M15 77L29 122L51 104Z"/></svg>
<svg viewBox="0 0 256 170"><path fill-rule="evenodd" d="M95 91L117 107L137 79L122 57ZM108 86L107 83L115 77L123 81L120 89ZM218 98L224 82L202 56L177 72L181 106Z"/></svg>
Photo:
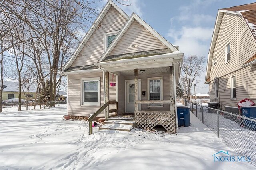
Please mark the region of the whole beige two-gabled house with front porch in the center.
<svg viewBox="0 0 256 170"><path fill-rule="evenodd" d="M142 115L150 115L176 133L175 86L182 59L177 46L109 0L63 72L68 115L89 117L106 106L96 117L132 113L140 127L152 129L155 125L142 125Z"/></svg>

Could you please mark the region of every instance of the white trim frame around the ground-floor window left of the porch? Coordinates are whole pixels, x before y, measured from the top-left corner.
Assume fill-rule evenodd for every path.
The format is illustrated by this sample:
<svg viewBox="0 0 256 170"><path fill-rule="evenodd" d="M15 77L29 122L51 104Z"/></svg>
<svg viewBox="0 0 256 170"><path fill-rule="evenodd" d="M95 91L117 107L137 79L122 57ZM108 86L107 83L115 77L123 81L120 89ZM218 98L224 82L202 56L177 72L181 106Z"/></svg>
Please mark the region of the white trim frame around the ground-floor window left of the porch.
<svg viewBox="0 0 256 170"><path fill-rule="evenodd" d="M98 102L84 102L84 82L98 81ZM81 78L81 106L100 106L100 77Z"/></svg>

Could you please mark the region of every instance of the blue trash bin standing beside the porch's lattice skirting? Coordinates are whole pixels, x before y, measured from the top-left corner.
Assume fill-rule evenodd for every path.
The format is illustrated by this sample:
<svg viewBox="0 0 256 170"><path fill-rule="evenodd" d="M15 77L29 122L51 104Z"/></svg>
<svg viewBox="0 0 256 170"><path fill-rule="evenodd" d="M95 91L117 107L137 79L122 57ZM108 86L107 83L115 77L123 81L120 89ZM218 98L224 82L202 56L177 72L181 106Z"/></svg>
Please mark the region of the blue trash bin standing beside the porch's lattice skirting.
<svg viewBox="0 0 256 170"><path fill-rule="evenodd" d="M190 106L177 106L178 125L190 126Z"/></svg>

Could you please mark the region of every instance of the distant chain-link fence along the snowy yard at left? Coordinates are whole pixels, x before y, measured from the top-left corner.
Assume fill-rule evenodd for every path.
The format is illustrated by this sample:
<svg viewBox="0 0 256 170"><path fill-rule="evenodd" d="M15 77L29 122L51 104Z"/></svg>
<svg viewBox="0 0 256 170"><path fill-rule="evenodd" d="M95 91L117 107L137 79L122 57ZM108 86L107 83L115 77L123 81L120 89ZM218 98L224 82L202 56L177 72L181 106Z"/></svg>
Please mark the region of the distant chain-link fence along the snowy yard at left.
<svg viewBox="0 0 256 170"><path fill-rule="evenodd" d="M66 101L51 101L51 102L22 102L21 110L33 110L33 109L41 109L48 108L52 104L55 107L66 107ZM8 103L0 104L3 112L11 112L18 111L19 102L13 101Z"/></svg>

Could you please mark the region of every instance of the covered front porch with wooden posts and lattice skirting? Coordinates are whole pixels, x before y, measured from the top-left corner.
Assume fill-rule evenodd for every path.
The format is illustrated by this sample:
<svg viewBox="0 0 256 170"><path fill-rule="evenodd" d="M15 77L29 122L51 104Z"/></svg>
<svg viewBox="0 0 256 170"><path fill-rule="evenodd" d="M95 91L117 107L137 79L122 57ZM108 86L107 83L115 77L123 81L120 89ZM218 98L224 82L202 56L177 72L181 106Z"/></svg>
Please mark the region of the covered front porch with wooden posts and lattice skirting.
<svg viewBox="0 0 256 170"><path fill-rule="evenodd" d="M118 104L112 116L132 113L137 126L142 129L153 130L156 125L162 125L168 133L176 133L175 89L182 56L162 55L97 63L104 70L105 102L111 102L110 82L114 75ZM106 106L105 119L112 117L112 111L109 105Z"/></svg>

